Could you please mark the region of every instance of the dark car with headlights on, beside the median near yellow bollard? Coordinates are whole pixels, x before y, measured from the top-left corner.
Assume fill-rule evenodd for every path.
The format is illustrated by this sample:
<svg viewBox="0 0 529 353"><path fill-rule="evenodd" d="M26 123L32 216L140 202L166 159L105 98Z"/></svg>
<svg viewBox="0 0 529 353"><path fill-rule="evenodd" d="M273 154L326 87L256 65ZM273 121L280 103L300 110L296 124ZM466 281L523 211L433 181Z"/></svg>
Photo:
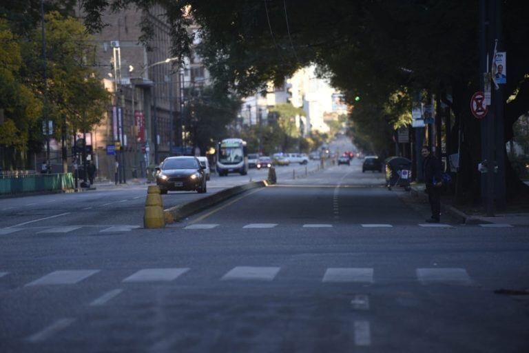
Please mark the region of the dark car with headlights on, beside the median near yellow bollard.
<svg viewBox="0 0 529 353"><path fill-rule="evenodd" d="M169 190L196 190L203 194L207 191L204 170L196 157L168 157L156 167L156 185L162 194Z"/></svg>

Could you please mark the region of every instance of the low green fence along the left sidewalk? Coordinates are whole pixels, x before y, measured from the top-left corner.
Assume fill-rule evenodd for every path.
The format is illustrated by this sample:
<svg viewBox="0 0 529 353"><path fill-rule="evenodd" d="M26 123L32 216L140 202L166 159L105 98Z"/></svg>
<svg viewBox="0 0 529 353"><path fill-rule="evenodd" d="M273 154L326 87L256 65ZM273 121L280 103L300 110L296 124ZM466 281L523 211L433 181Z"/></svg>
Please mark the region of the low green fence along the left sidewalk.
<svg viewBox="0 0 529 353"><path fill-rule="evenodd" d="M72 173L19 174L0 177L0 195L74 188Z"/></svg>

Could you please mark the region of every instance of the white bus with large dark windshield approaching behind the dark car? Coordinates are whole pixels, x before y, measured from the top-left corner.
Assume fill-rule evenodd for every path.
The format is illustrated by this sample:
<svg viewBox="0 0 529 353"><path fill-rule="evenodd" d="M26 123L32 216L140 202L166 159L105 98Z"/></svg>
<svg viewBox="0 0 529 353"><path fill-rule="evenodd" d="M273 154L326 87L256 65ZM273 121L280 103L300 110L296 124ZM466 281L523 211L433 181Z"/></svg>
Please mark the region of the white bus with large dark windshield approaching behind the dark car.
<svg viewBox="0 0 529 353"><path fill-rule="evenodd" d="M246 141L242 139L224 139L217 146L217 172L219 177L228 173L248 172Z"/></svg>

